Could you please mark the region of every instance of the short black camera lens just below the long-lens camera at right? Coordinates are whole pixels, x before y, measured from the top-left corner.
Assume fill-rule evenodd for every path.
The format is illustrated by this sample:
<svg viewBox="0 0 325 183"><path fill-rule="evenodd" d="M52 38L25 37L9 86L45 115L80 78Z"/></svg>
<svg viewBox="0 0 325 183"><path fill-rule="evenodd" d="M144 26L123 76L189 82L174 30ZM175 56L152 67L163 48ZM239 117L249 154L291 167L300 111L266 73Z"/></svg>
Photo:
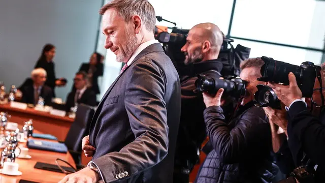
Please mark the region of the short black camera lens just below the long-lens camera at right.
<svg viewBox="0 0 325 183"><path fill-rule="evenodd" d="M257 91L254 94L254 102L256 107L272 107L281 109L281 101L270 86L258 84Z"/></svg>

